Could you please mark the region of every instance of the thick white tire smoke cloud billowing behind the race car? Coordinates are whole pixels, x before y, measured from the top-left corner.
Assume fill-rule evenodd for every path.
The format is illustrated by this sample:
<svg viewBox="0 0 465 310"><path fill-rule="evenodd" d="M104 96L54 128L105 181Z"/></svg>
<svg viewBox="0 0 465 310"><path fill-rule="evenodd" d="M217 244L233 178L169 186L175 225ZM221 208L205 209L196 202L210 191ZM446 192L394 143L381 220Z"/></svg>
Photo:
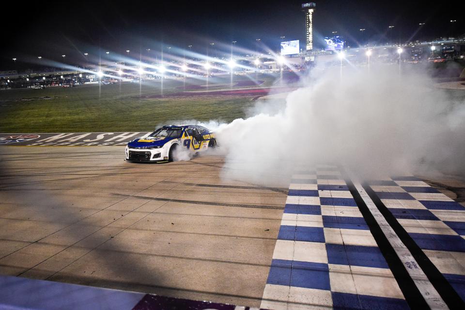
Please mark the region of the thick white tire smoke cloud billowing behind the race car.
<svg viewBox="0 0 465 310"><path fill-rule="evenodd" d="M342 164L361 177L440 170L465 174L465 93L451 99L433 81L398 67L339 68L313 77L285 106L260 102L255 115L217 131L223 176L278 185L295 163ZM208 127L210 125L210 127Z"/></svg>

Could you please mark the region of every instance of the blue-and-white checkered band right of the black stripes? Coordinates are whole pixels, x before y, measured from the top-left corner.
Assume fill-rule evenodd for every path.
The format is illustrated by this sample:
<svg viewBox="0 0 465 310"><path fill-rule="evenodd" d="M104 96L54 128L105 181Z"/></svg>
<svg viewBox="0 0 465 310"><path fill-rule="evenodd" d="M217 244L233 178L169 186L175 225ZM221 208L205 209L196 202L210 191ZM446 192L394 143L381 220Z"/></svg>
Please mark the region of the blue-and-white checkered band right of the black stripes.
<svg viewBox="0 0 465 310"><path fill-rule="evenodd" d="M368 184L465 301L465 207L414 176Z"/></svg>

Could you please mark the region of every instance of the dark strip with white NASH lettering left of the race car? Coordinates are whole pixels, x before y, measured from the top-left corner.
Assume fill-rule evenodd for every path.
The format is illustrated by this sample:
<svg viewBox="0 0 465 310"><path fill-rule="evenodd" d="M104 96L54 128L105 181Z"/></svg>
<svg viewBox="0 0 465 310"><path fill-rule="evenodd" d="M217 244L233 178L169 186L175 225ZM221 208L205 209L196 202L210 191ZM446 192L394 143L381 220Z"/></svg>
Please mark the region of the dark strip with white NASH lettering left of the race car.
<svg viewBox="0 0 465 310"><path fill-rule="evenodd" d="M124 146L150 132L67 132L67 133L0 133L0 145L7 146Z"/></svg>

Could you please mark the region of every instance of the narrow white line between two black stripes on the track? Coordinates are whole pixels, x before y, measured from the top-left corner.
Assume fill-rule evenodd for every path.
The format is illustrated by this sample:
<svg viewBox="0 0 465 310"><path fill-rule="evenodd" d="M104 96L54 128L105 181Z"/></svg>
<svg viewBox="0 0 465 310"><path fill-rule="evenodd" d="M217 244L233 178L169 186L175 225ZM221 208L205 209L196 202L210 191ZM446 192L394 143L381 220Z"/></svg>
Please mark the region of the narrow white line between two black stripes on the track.
<svg viewBox="0 0 465 310"><path fill-rule="evenodd" d="M352 173L349 174L353 176ZM378 223L379 227L387 237L389 244L394 248L395 252L399 256L399 259L403 262L404 268L413 279L415 285L418 288L418 291L422 294L428 306L431 309L449 309L442 297L434 288L433 284L430 282L428 277L426 277L423 270L419 267L412 253L410 253L399 236L397 236L394 229L387 223L387 220L378 210L360 182L354 178L351 179L358 194L361 196L368 209L372 213L374 219Z"/></svg>

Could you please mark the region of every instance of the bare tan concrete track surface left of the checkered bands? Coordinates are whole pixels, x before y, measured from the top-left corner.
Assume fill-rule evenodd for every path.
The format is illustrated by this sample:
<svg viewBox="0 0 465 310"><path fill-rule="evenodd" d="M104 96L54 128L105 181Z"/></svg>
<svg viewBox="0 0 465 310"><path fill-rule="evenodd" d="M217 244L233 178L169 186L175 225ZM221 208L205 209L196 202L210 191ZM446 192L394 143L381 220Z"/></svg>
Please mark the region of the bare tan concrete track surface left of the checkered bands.
<svg viewBox="0 0 465 310"><path fill-rule="evenodd" d="M287 189L123 152L2 146L0 274L260 306Z"/></svg>

